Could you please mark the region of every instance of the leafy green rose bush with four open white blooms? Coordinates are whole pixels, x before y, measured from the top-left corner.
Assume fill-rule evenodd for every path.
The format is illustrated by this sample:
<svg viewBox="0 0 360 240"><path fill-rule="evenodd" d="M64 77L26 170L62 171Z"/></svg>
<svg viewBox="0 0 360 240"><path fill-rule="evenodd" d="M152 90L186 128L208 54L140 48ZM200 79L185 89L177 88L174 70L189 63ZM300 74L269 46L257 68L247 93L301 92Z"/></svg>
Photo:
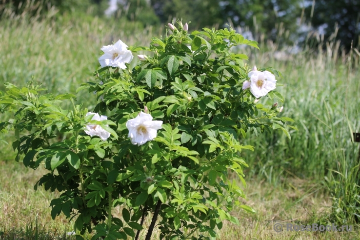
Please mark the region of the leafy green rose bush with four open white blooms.
<svg viewBox="0 0 360 240"><path fill-rule="evenodd" d="M76 95L46 93L33 81L23 88L5 83L0 103L14 119L0 127L14 129L16 160L49 170L35 189L61 192L51 215L74 219L77 240L93 230L93 240L138 239L148 215L146 240L156 222L161 239L215 239L224 220L239 224L232 209L255 212L229 179L234 172L245 186L241 152L253 148L241 139L272 129L290 138L292 120L272 106L283 102L273 91L280 73L248 73L247 56L230 51L239 44L258 48L257 42L227 28L191 34L181 22L169 28L150 47L127 49L119 40L101 48L97 80L77 90L97 95L92 112L75 104ZM148 52L132 70L130 51ZM263 96L268 105L258 102ZM73 109L63 109L63 100ZM112 214L117 206L120 218Z"/></svg>

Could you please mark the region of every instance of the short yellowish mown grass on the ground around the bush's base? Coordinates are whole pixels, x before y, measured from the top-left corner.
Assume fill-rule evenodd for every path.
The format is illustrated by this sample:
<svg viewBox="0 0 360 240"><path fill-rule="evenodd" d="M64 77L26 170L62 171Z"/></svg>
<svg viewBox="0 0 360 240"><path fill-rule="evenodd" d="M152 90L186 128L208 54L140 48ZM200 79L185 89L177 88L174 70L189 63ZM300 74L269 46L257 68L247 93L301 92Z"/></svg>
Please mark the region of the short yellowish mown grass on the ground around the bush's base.
<svg viewBox="0 0 360 240"><path fill-rule="evenodd" d="M63 215L55 220L50 217L49 203L54 195L39 188L33 190L33 185L44 169L34 171L25 168L21 163L2 162L0 172L0 240L21 239L75 239L67 236L72 231L72 223ZM240 226L223 222L220 240L239 239L358 239L358 227L353 232L281 232L273 230L275 223L311 224L318 222L317 216L327 214L332 200L323 184L313 180L298 178L282 179L278 185L266 181L249 179L245 188L247 200L244 204L257 210L257 214L248 214L234 209L232 214L239 218ZM121 209L114 211L114 216L121 218ZM37 222L36 222L37 221ZM148 226L151 216L145 220ZM140 234L144 239L146 231ZM158 234L158 233L156 233ZM157 235L153 239L158 239Z"/></svg>

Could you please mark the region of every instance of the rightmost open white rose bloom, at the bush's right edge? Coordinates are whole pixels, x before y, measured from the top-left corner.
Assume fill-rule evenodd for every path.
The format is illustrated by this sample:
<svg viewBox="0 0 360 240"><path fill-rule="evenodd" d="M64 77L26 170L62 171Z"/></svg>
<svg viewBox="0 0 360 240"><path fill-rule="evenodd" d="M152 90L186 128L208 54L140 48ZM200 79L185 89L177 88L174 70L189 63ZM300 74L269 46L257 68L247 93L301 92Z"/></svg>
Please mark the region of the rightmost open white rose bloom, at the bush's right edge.
<svg viewBox="0 0 360 240"><path fill-rule="evenodd" d="M268 92L276 88L275 76L269 71L251 71L248 76L250 77L250 92L257 99L265 96ZM244 85L242 88L244 88Z"/></svg>

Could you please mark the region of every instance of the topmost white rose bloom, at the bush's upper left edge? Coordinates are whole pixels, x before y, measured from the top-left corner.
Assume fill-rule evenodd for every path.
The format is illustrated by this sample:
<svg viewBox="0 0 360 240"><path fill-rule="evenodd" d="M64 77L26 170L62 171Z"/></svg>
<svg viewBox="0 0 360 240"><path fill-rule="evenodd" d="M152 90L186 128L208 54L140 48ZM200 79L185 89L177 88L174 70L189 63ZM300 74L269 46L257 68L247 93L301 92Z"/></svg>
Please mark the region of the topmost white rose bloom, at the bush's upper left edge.
<svg viewBox="0 0 360 240"><path fill-rule="evenodd" d="M101 67L112 66L125 69L125 62L131 62L134 57L131 51L127 50L127 45L121 40L114 45L102 46L101 50L104 52L104 55L99 58Z"/></svg>

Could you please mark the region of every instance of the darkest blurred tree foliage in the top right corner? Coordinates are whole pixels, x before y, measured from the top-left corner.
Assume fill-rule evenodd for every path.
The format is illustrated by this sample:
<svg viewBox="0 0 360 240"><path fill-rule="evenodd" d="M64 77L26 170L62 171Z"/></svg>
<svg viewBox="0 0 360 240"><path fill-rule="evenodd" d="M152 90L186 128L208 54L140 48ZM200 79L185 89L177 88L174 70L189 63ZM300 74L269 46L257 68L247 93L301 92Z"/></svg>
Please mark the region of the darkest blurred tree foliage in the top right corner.
<svg viewBox="0 0 360 240"><path fill-rule="evenodd" d="M311 4L306 8L307 19L310 19L311 8ZM317 0L311 23L314 27L326 26L325 39L330 37L335 31L335 25L338 24L337 39L341 40L346 49L350 49L352 40L353 46L359 47L359 20L359 0Z"/></svg>

